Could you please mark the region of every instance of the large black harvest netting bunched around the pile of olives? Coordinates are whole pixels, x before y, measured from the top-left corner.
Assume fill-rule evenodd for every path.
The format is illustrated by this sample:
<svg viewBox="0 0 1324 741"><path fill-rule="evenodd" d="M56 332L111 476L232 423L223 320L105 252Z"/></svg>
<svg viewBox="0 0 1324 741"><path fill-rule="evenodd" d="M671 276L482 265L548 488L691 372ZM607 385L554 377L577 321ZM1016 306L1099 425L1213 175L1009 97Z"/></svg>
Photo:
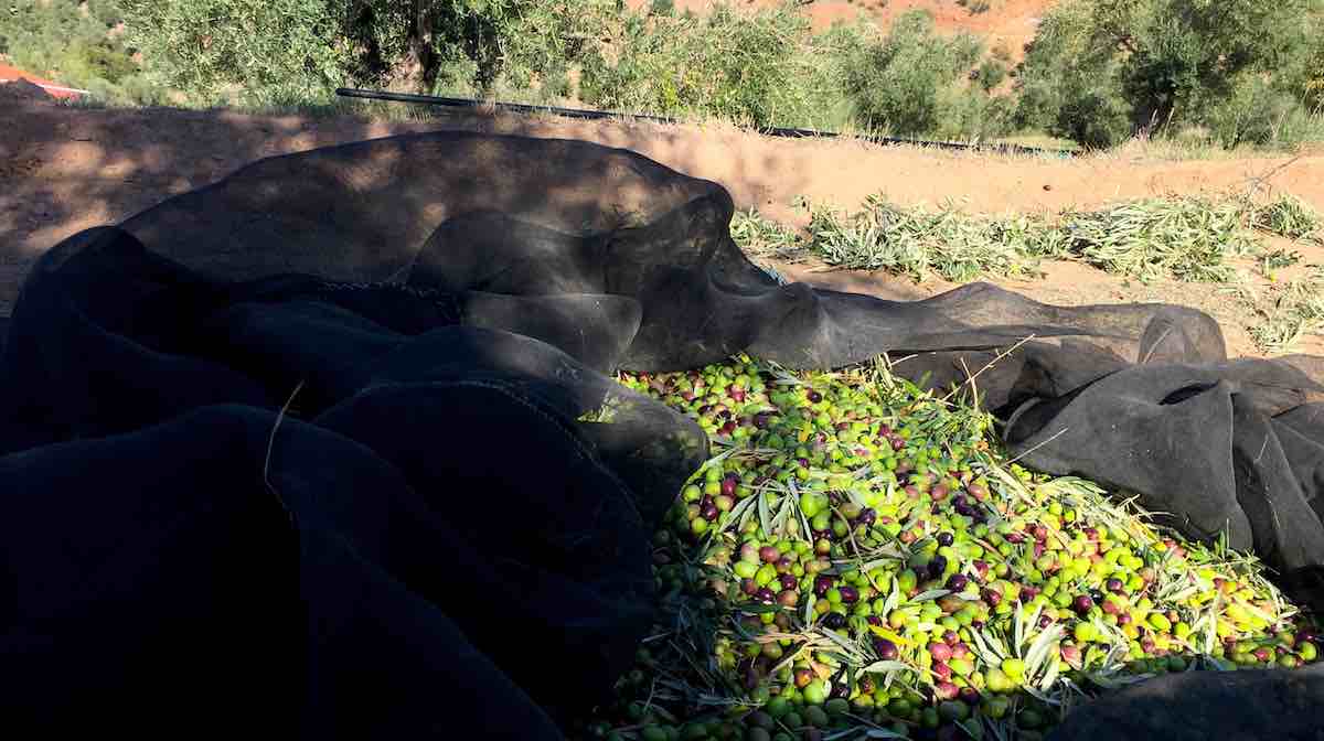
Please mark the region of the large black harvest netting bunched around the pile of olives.
<svg viewBox="0 0 1324 741"><path fill-rule="evenodd" d="M556 737L629 664L647 539L708 455L609 374L737 351L977 373L1027 463L1226 529L1324 606L1324 360L1229 361L1166 304L780 286L731 216L621 150L429 134L52 249L0 363L7 721Z"/></svg>

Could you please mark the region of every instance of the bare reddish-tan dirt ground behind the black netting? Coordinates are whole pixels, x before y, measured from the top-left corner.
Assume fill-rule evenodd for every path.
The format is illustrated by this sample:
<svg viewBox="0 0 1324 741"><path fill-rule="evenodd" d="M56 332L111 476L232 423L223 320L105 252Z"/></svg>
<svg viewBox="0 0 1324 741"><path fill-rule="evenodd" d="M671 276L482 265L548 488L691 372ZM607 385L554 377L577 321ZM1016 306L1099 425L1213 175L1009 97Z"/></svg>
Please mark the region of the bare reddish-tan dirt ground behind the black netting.
<svg viewBox="0 0 1324 741"><path fill-rule="evenodd" d="M798 196L854 208L870 193L900 204L963 201L972 212L1090 208L1115 198L1217 192L1267 177L1324 210L1324 155L1164 161L1143 151L1075 160L936 152L858 140L772 139L733 127L663 127L450 111L429 120L250 116L225 111L97 110L13 98L0 89L0 316L8 315L32 262L65 237L118 222L163 198L212 183L258 157L430 130L573 138L634 150L731 191L741 209L802 224ZM1287 245L1305 263L1324 249ZM822 266L779 266L796 279L888 298L923 298L951 287ZM1255 355L1247 295L1267 282L1245 271L1238 284L1148 286L1079 263L1049 263L1042 281L994 281L1058 304L1164 300L1200 307L1225 327L1233 355ZM1311 337L1300 351L1324 355Z"/></svg>

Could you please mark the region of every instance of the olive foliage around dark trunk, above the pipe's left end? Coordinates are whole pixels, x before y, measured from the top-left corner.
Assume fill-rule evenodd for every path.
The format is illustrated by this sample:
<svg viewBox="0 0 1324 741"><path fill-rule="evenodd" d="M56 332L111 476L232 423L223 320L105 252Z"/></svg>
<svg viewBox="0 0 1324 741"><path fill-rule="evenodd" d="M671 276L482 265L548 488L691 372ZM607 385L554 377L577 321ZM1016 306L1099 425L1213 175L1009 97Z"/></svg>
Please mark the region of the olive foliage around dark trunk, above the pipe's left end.
<svg viewBox="0 0 1324 741"><path fill-rule="evenodd" d="M564 97L614 0L123 0L156 79L196 102L319 102L346 83Z"/></svg>

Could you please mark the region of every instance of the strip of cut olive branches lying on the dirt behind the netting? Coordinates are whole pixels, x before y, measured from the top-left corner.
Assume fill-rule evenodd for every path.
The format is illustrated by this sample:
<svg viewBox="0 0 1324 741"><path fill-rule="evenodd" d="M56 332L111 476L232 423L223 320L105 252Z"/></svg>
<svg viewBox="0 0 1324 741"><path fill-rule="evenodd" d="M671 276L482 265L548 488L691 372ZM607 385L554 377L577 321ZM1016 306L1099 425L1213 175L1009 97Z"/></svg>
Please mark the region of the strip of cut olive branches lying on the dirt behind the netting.
<svg viewBox="0 0 1324 741"><path fill-rule="evenodd" d="M817 206L809 214L804 240L753 212L732 222L731 236L756 257L817 254L829 265L952 282L1034 275L1043 258L1080 259L1140 281L1223 282L1233 277L1229 259L1262 251L1259 233L1321 236L1319 214L1291 196L1144 198L1053 217L970 214L951 202L904 208L871 196L851 214Z"/></svg>

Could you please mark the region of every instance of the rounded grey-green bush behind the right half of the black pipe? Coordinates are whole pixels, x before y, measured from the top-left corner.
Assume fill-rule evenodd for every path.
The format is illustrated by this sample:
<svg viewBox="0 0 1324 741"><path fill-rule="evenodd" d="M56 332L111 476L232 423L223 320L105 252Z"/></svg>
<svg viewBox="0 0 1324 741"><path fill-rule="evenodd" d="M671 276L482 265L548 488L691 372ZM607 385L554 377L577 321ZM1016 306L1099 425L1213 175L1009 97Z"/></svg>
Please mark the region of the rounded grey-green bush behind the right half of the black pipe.
<svg viewBox="0 0 1324 741"><path fill-rule="evenodd" d="M861 123L894 134L923 135L943 123L941 94L982 53L967 34L933 32L933 17L910 11L880 41L862 49L846 69L846 91Z"/></svg>

